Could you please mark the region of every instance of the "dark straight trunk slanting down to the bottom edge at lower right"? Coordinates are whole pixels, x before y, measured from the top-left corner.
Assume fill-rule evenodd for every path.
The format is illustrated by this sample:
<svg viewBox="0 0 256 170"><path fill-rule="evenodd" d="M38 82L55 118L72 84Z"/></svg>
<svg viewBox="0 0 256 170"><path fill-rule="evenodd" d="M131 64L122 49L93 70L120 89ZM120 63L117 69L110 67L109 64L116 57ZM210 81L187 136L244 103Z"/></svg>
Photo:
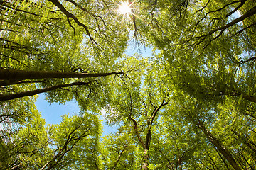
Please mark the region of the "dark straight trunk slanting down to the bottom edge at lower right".
<svg viewBox="0 0 256 170"><path fill-rule="evenodd" d="M220 143L220 141L218 141L218 139L214 137L213 134L211 134L211 132L208 129L206 129L204 125L202 125L201 123L197 123L196 125L203 131L208 140L210 140L210 142L218 149L218 151L223 155L223 157L227 159L228 163L230 163L230 165L233 166L235 170L241 170L238 164L235 162L235 159L233 158L232 154L228 151L228 149L225 148Z"/></svg>

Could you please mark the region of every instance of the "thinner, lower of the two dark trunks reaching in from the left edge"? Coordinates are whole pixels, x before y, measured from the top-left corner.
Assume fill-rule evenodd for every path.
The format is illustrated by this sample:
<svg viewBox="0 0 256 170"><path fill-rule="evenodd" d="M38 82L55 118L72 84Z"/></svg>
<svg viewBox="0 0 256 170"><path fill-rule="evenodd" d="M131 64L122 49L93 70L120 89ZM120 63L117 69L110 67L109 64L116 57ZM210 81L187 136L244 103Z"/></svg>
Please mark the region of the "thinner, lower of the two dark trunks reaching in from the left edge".
<svg viewBox="0 0 256 170"><path fill-rule="evenodd" d="M36 94L41 94L47 91L52 91L55 89L59 89L59 88L63 88L63 87L68 87L68 86L75 86L75 85L86 85L86 84L90 84L92 83L92 81L90 82L74 82L74 83L70 83L70 84L60 84L60 85L56 85L56 86L49 86L49 87L45 87L42 89L36 89L36 90L32 90L32 91L23 91L20 93L16 93L16 94L5 94L5 95L0 95L0 101L9 101L15 98L21 98L21 97L25 97L25 96L33 96Z"/></svg>

